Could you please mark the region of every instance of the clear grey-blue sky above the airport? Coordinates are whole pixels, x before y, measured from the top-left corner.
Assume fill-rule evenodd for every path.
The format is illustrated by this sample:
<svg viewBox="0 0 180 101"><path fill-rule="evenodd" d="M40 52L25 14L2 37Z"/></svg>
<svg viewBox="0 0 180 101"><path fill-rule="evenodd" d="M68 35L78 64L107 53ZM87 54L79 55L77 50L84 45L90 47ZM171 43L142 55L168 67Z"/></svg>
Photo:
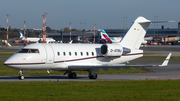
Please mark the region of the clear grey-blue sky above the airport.
<svg viewBox="0 0 180 101"><path fill-rule="evenodd" d="M149 20L176 21L151 25L177 28L180 0L0 0L0 27L42 29L43 15L51 29L122 29L143 16ZM81 24L82 23L82 24Z"/></svg>

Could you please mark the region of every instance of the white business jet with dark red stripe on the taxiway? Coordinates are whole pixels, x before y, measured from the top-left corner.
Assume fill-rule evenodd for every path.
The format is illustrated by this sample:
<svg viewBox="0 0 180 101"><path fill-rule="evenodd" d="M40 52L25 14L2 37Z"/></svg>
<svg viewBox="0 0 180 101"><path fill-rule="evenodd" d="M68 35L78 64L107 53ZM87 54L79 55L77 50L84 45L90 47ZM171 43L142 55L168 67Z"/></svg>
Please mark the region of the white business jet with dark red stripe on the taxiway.
<svg viewBox="0 0 180 101"><path fill-rule="evenodd" d="M171 53L161 65L126 65L123 63L140 58L140 45L152 21L138 17L119 43L111 44L61 44L34 43L20 49L9 57L4 65L19 70L19 79L24 79L23 70L58 70L75 79L73 71L88 71L89 79L96 79L95 72L109 68L119 70L130 67L167 66Z"/></svg>

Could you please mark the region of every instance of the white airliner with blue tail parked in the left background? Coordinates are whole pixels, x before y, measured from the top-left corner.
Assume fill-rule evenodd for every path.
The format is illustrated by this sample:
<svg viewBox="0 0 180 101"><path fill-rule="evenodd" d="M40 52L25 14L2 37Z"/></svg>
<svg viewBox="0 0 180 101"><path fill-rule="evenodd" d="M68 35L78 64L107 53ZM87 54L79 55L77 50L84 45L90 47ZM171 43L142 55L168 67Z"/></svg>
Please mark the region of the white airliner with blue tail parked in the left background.
<svg viewBox="0 0 180 101"><path fill-rule="evenodd" d="M21 40L29 41L30 43L38 43L43 40L43 38L33 38L33 37L24 37L24 34L19 30L19 38ZM54 43L55 40L53 38L46 38L46 43Z"/></svg>

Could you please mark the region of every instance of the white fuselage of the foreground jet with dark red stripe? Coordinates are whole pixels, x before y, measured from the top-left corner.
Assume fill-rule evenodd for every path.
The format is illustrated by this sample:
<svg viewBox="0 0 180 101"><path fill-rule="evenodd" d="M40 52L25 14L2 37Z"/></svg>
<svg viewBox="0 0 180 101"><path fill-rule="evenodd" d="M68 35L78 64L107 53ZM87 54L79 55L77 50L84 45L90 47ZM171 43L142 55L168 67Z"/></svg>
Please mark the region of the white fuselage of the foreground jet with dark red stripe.
<svg viewBox="0 0 180 101"><path fill-rule="evenodd" d="M142 50L131 50L128 54L104 57L100 54L103 44L59 44L35 43L22 49L38 49L38 53L15 53L5 65L16 69L68 70L70 65L113 65L143 56ZM111 44L108 44L111 45ZM121 47L120 44L118 44ZM83 70L86 70L84 68Z"/></svg>

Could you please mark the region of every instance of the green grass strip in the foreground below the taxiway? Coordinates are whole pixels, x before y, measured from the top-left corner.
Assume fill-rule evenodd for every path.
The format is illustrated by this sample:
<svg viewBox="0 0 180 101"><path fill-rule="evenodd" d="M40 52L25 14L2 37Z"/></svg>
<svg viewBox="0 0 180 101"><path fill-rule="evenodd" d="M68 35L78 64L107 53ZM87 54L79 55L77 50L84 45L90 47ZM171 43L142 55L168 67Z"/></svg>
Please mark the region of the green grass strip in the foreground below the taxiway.
<svg viewBox="0 0 180 101"><path fill-rule="evenodd" d="M0 82L0 100L178 101L180 80Z"/></svg>

